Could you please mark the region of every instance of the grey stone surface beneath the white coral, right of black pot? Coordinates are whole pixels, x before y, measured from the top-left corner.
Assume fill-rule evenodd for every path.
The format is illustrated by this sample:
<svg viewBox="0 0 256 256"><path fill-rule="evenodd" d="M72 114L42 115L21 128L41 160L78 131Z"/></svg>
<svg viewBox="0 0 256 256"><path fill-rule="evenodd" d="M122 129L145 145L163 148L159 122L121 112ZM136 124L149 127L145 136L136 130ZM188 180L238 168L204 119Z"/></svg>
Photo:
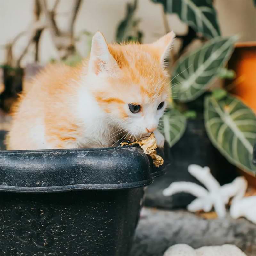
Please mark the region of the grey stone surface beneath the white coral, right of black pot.
<svg viewBox="0 0 256 256"><path fill-rule="evenodd" d="M256 225L241 218L204 219L185 210L144 208L131 255L158 256L174 244L193 248L233 244L246 255L256 255Z"/></svg>

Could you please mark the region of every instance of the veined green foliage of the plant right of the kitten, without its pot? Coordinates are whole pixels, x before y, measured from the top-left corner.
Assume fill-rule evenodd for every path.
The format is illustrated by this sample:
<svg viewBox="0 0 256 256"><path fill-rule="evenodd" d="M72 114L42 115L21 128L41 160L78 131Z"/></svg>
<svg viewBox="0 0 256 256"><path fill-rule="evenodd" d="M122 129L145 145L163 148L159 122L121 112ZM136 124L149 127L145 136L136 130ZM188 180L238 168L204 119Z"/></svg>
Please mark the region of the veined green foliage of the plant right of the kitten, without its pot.
<svg viewBox="0 0 256 256"><path fill-rule="evenodd" d="M170 146L185 130L186 118L177 115L195 118L203 112L206 131L213 145L232 164L255 172L256 168L252 164L256 140L255 114L221 88L220 83L216 83L217 78L235 78L235 72L226 69L225 65L233 52L237 36L221 37L213 1L154 2L163 5L164 15L175 13L189 27L187 35L177 35L182 44L178 54L171 56L174 62L171 78L174 101L169 113L163 118L163 133ZM195 38L204 44L180 57ZM199 103L197 99L201 95L204 95L204 99ZM176 121L178 118L180 122Z"/></svg>

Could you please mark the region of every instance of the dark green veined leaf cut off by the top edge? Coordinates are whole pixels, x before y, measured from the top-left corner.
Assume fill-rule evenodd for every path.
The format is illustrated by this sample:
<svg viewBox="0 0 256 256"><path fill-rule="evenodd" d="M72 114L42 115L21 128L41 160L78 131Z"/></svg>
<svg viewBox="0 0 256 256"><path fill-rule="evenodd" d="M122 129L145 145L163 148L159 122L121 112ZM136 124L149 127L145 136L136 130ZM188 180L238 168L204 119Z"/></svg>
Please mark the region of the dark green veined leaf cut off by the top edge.
<svg viewBox="0 0 256 256"><path fill-rule="evenodd" d="M153 0L164 5L168 13L176 13L180 20L206 38L220 36L216 11L209 0Z"/></svg>

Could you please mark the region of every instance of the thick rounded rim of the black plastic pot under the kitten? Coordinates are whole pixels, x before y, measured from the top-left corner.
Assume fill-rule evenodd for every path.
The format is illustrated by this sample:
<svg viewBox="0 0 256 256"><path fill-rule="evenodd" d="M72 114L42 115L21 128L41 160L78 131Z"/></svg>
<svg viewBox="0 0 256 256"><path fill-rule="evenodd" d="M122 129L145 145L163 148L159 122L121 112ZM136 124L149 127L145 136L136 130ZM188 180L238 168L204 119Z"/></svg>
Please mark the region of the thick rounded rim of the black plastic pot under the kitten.
<svg viewBox="0 0 256 256"><path fill-rule="evenodd" d="M138 146L0 151L0 191L128 189L147 186L163 173Z"/></svg>

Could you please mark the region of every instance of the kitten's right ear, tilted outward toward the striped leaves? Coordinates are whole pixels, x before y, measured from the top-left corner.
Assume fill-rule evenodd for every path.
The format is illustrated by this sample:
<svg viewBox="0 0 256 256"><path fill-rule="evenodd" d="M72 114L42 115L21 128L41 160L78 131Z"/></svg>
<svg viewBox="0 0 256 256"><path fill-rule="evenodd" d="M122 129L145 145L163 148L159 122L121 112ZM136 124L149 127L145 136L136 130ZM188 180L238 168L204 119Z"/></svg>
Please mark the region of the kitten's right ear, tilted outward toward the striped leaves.
<svg viewBox="0 0 256 256"><path fill-rule="evenodd" d="M160 61L165 69L169 66L170 52L172 50L174 38L175 33L171 31L152 44L158 49L160 54Z"/></svg>

